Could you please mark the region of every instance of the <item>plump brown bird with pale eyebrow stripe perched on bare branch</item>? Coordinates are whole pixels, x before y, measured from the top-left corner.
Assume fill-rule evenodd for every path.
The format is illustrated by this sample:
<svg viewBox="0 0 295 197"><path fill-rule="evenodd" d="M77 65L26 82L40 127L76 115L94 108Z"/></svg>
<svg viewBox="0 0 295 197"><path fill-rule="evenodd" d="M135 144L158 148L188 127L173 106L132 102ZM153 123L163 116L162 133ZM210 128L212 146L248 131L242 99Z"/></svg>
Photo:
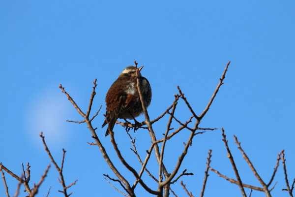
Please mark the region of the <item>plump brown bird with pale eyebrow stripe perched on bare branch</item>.
<svg viewBox="0 0 295 197"><path fill-rule="evenodd" d="M147 108L151 101L151 88L148 79L141 76L140 71L143 67L138 68L138 77L143 101ZM103 128L109 124L106 136L109 134L109 131L113 131L118 118L124 119L126 122L126 119L134 119L137 122L135 117L143 113L142 103L136 85L137 76L135 67L127 66L110 87L106 96L106 120L102 125Z"/></svg>

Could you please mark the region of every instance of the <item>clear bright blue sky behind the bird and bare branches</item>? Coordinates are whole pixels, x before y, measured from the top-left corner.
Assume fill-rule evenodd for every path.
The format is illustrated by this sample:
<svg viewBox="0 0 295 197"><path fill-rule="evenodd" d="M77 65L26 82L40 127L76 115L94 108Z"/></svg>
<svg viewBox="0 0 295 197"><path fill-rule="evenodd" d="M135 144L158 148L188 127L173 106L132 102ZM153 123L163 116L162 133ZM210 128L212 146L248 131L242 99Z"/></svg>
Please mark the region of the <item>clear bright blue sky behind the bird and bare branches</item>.
<svg viewBox="0 0 295 197"><path fill-rule="evenodd" d="M89 146L91 134L86 125L65 120L82 118L60 92L59 84L86 111L92 82L97 78L93 113L103 105L93 121L100 128L104 121L104 98L124 67L136 60L144 65L143 76L152 87L148 108L151 119L171 105L177 85L200 114L207 105L224 67L231 61L224 85L200 127L219 128L194 138L179 171L195 175L183 177L189 191L199 196L206 158L212 149L211 166L235 178L221 128L226 131L241 179L260 186L242 159L234 143L235 134L261 177L267 183L277 154L285 149L290 181L295 177L295 2L276 1L14 1L0 2L0 162L20 175L21 164L31 165L31 183L36 183L50 159L40 131L60 163L62 148L67 150L64 175L73 196L121 196L102 176L115 178L97 147ZM179 101L177 117L190 117ZM141 116L138 120L143 121ZM154 124L160 138L167 118ZM177 128L178 124L173 123ZM115 127L115 137L122 154L137 170L135 155L129 150L130 139L123 128ZM117 156L105 129L97 133L118 165L134 181ZM142 157L149 148L146 130L131 132L137 139ZM167 142L164 162L169 171L177 163L189 132L182 131ZM154 157L148 168L157 176ZM288 196L280 165L273 196ZM205 196L241 196L238 187L209 172ZM17 182L6 173L10 195ZM147 176L144 180L156 190ZM2 181L1 181L2 182ZM52 166L38 196L62 196L58 173ZM138 196L149 197L141 186ZM179 182L172 186L178 197L186 196ZM249 194L250 190L246 189ZM4 187L0 184L0 195ZM20 196L25 196L21 193ZM252 196L264 197L253 191Z"/></svg>

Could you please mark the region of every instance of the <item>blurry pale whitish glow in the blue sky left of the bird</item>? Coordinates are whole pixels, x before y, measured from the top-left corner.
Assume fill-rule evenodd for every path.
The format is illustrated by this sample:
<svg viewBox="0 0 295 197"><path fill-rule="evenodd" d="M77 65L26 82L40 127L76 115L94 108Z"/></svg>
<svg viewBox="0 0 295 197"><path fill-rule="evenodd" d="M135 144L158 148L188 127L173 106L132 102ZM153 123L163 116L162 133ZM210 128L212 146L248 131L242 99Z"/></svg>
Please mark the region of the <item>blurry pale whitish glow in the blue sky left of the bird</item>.
<svg viewBox="0 0 295 197"><path fill-rule="evenodd" d="M69 105L65 104L66 99L61 99L57 94L61 93L45 88L34 95L26 106L26 130L29 139L37 146L40 146L41 131L49 143L61 145L66 140L65 120L62 117L69 113Z"/></svg>

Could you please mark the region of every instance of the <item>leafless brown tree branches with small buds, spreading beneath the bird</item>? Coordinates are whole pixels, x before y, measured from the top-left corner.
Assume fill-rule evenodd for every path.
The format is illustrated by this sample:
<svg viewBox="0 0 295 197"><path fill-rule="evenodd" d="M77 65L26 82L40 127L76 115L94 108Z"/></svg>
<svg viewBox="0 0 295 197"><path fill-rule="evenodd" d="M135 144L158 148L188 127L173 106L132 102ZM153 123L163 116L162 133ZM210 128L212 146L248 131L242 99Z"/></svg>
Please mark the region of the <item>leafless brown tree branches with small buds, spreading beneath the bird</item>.
<svg viewBox="0 0 295 197"><path fill-rule="evenodd" d="M135 69L137 71L137 75L138 75L138 68L137 68L137 63L134 61L135 63ZM148 192L149 194L152 194L154 196L157 197L169 197L170 196L170 192L172 193L172 195L174 195L175 197L177 197L177 192L173 191L171 189L171 185L177 183L177 181L180 178L183 178L183 176L188 176L188 175L193 175L193 173L191 172L186 172L187 169L184 169L182 171L179 171L181 164L183 163L183 160L185 158L185 156L187 155L188 149L189 147L192 146L193 143L193 139L195 136L202 134L206 131L213 131L216 130L215 128L200 128L199 125L202 121L202 119L205 117L205 115L207 114L207 111L209 110L216 94L218 93L221 85L223 84L223 81L225 79L225 75L226 72L228 70L228 67L230 65L230 62L227 64L227 66L225 67L221 78L219 79L219 83L215 89L215 91L212 94L212 97L209 99L207 106L204 108L204 110L197 115L198 113L196 112L195 109L192 108L192 105L189 103L189 101L186 99L186 97L184 97L184 94L182 93L181 89L179 87L177 87L178 89L178 94L176 94L174 97L174 101L173 103L156 119L154 120L150 120L149 115L148 115L148 110L146 109L144 102L143 102L143 97L142 97L142 93L141 93L141 89L139 86L139 78L137 79L137 89L140 95L140 100L142 103L142 107L143 107L143 113L145 115L145 121L141 122L141 123L136 123L136 124L131 124L131 123L122 123L122 122L118 122L117 124L121 125L122 127L125 127L126 129L126 133L128 135L128 137L130 138L131 141L131 146L132 148L131 151L136 155L138 162L141 165L141 169L139 171L137 171L135 169L134 166L131 165L130 162L127 162L124 155L122 155L121 150L118 147L118 144L116 143L116 138L115 138L115 134L113 131L110 132L110 137L111 137L111 143L113 145L113 148L117 154L117 157L119 159L119 161L125 166L125 168L130 171L130 173L135 177L135 181L131 182L130 180L127 180L126 177L124 177L122 175L122 171L120 171L118 169L118 167L113 163L113 159L111 157L109 157L109 152L110 150L106 150L105 146L102 144L99 135L97 134L97 128L92 126L92 121L93 119L98 115L100 108L98 109L98 111L94 114L94 116L90 117L90 113L91 113L91 109L92 109L92 103L93 103L93 99L96 95L96 79L93 82L93 88L92 88L92 93L90 95L90 100L89 100L89 105L88 105L88 109L86 112L83 112L81 110L81 108L79 107L79 105L74 101L74 99L65 91L65 88L60 84L59 88L61 89L62 93L64 93L67 97L67 99L73 104L73 106L75 107L75 109L78 111L78 113L83 117L82 121L72 121L69 120L68 122L73 122L73 123L86 123L87 128L89 129L90 133L91 133L91 137L94 139L94 142L89 143L89 145L94 145L97 146L100 150L100 153L102 154L104 160L106 161L106 163L109 165L110 169L114 172L114 174L117 176L116 178L110 177L108 174L103 174L105 176L105 180L115 189L117 190L120 194L126 196L126 197L136 197L136 193L135 193L135 188L140 185L141 187L143 187L146 192ZM176 108L177 108L177 104L178 102L182 100L185 105L187 106L188 110L191 113L190 117L186 117L186 121L185 122L181 122L179 120L179 115L176 114ZM166 131L164 133L164 136L160 137L156 136L155 132L154 132L154 128L153 128L153 124L157 121L163 120L162 118L164 116L168 116L168 122L167 122L167 127L166 127ZM183 117L181 117L183 118ZM179 126L178 128L174 129L171 128L171 124L172 121L176 121ZM147 153L145 156L142 156L139 154L139 152L137 151L137 146L136 146L136 138L133 138L130 133L128 132L130 130L130 128L133 128L134 130L137 129L146 129L145 131L148 131L149 135L150 135L150 146L149 149L147 150ZM178 157L177 163L175 166L169 166L169 168L173 168L172 171L168 171L167 170L167 164L164 163L164 156L165 153L167 153L167 149L165 149L166 143L168 140L172 139L173 137L177 136L177 133L187 130L189 131L189 136L187 138L186 143L184 143L184 148L181 152L181 154ZM158 133L158 132L157 132ZM69 193L67 190L76 184L77 180L72 182L70 185L66 185L65 184L65 177L63 176L63 166L64 166L64 157L65 157L65 153L66 151L64 149L62 149L63 154L62 154L62 161L61 164L58 165L46 142L45 142L45 137L43 136L43 133L41 132L40 137L43 141L45 150L48 154L48 156L51 159L52 164L55 166L56 170L59 172L59 182L62 186L62 190L59 190L60 193L63 194L64 197L69 197L72 193ZM289 181L288 181L288 177L287 177L287 169L286 169L286 159L285 159L285 155L284 155L284 151L281 151L278 154L278 159L275 165L275 168L272 172L272 176L269 180L269 182L266 184L265 181L262 180L262 178L259 176L257 170L255 169L254 165L252 164L252 162L250 161L250 159L248 158L248 156L246 155L246 153L244 152L244 150L241 147L241 143L237 140L237 137L234 135L235 138L235 142L237 144L237 148L241 151L243 158L245 159L245 161L247 162L247 164L250 166L251 170L253 171L255 177L258 179L258 181L261 184L261 187L256 187L253 185L248 185L248 184L244 184L242 182L242 178L240 177L239 173L238 173L238 167L236 166L236 163L234 161L233 155L230 151L230 148L228 146L228 140L226 139L226 135L225 135L225 131L222 129L222 140L224 141L225 144L225 148L228 152L228 158L230 159L230 162L232 164L233 170L235 172L236 175L236 180L233 178L229 178L223 174L221 174L219 171L215 170L214 168L212 168L210 166L210 162L211 162L211 158L212 158L212 150L208 151L208 157L207 157L207 165L206 165L206 169L205 169L205 177L204 177L204 181L203 181L203 186L201 189L201 194L200 197L203 197L205 195L205 188L206 188L206 183L207 183L207 178L209 176L209 169L213 172L215 172L216 174L218 174L220 177L223 177L224 179L230 181L231 183L236 184L240 191L241 191L241 195L243 197L247 197L244 188L250 188L251 189L251 193L249 194L249 197L252 194L252 190L257 190L257 191L261 191L264 192L266 194L266 197L270 197L270 192L271 190L274 188L274 186L272 188L270 188L270 185L272 184L273 180L274 180L274 176L277 172L277 169L279 167L279 162L282 161L283 163L283 167L284 167L284 173L285 173L285 181L286 181L286 186L287 189L283 189L285 191L287 191L289 193L289 195L291 197L293 197L293 189L294 189L294 185L295 185L295 179L293 180L293 183L291 184L291 186L289 185ZM128 143L128 142L126 142ZM124 146L126 147L126 146ZM152 155L152 152L156 158L157 161L157 165L158 165L158 170L157 172L154 171L150 171L147 168L147 164L149 162L149 159ZM29 163L27 164L27 169L24 169L24 165L23 165L23 174L21 177L17 176L16 174L14 174L12 171L10 171L9 169L7 169L3 164L0 163L0 171L2 174L2 180L3 180L3 184L4 184L4 188L5 188L5 194L6 197L10 197L9 196L9 192L8 192L8 186L6 184L6 180L5 180L5 175L4 175L4 171L6 171L8 174L10 174L11 176L13 176L16 180L19 181L19 184L17 186L16 192L15 192L15 197L17 197L19 195L19 190L20 190L20 185L23 184L25 186L25 189L28 193L29 197L34 197L37 193L38 193L38 189L41 186L42 182L44 181L48 170L50 168L50 165L48 165L48 167L46 168L46 170L44 171L44 174L41 176L41 179L39 181L39 183L33 184L32 189L29 186L29 181L30 181L30 166ZM147 173L157 184L157 188L151 188L148 184L147 181L143 179L143 174ZM153 174L157 174L157 176L153 175ZM114 184L114 183L118 183L118 184ZM186 187L186 185L183 183L183 181L180 181L180 184L182 185L183 189L185 190L186 194L188 195L188 197L194 197L193 193L189 191L189 189ZM115 186L115 185L119 185ZM194 191L195 193L195 191ZM50 189L48 191L47 196L50 195Z"/></svg>

